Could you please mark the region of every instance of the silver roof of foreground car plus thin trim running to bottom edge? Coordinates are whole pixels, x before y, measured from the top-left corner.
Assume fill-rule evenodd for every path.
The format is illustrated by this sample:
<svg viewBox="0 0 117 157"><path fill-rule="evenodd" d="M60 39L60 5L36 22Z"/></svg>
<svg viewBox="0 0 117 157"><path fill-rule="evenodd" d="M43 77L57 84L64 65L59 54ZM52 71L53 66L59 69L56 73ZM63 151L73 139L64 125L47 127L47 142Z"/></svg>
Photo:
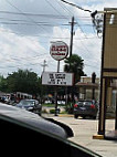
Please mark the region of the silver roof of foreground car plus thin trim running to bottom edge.
<svg viewBox="0 0 117 157"><path fill-rule="evenodd" d="M84 148L79 145L72 143L71 140L67 140L66 133L62 127L45 121L36 114L26 112L25 109L23 111L14 106L0 103L0 119L18 124L29 129L33 129L50 137L60 139L61 142L64 142L67 146L70 145L71 147L73 147L74 151L76 148L79 151L84 151L84 154L88 154L88 156L99 157L99 155L97 155L96 153L93 153L87 148Z"/></svg>

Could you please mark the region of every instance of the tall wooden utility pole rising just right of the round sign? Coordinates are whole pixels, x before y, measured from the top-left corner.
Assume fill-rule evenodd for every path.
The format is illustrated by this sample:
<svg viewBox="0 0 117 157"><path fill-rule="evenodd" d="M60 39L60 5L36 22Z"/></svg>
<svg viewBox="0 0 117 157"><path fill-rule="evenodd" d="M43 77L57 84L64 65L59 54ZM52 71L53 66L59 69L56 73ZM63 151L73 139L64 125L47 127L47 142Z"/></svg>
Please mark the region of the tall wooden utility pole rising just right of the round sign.
<svg viewBox="0 0 117 157"><path fill-rule="evenodd" d="M72 22L71 23L71 43L70 43L70 56L72 55L72 51L73 51L73 35L74 35L74 17L72 17Z"/></svg>

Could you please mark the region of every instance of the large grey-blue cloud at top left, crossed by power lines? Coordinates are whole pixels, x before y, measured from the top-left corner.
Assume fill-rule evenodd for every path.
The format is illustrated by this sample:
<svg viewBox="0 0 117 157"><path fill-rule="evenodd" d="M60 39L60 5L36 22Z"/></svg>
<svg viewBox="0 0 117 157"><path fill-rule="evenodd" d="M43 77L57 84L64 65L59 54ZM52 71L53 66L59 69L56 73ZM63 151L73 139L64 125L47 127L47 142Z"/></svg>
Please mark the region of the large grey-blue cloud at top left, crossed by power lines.
<svg viewBox="0 0 117 157"><path fill-rule="evenodd" d="M1 0L1 3L2 1L1 22L4 28L11 29L14 33L50 34L53 29L49 24L54 25L59 21L63 23L70 19L65 17L67 13L64 7L62 8L62 4L55 0L51 2L49 0L43 2L41 0Z"/></svg>

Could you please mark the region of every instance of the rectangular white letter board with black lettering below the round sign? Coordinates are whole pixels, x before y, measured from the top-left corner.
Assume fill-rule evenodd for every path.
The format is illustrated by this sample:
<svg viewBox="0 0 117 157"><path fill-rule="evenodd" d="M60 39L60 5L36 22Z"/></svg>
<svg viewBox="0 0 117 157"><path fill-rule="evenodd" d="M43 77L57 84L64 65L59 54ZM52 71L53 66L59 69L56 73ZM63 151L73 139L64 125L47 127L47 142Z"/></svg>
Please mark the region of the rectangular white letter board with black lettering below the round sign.
<svg viewBox="0 0 117 157"><path fill-rule="evenodd" d="M73 85L73 73L44 72L42 74L42 84L43 85L72 86Z"/></svg>

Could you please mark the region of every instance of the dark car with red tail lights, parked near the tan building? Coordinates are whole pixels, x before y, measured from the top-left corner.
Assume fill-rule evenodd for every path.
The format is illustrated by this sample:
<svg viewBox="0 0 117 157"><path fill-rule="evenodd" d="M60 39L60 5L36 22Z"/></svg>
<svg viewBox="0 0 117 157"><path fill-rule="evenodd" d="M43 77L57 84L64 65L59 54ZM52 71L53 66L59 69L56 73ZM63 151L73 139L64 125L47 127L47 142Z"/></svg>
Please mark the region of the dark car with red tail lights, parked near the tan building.
<svg viewBox="0 0 117 157"><path fill-rule="evenodd" d="M83 118L89 116L96 119L97 112L98 112L98 103L96 103L95 101L78 101L74 105L75 118L77 118L78 116L82 116Z"/></svg>

